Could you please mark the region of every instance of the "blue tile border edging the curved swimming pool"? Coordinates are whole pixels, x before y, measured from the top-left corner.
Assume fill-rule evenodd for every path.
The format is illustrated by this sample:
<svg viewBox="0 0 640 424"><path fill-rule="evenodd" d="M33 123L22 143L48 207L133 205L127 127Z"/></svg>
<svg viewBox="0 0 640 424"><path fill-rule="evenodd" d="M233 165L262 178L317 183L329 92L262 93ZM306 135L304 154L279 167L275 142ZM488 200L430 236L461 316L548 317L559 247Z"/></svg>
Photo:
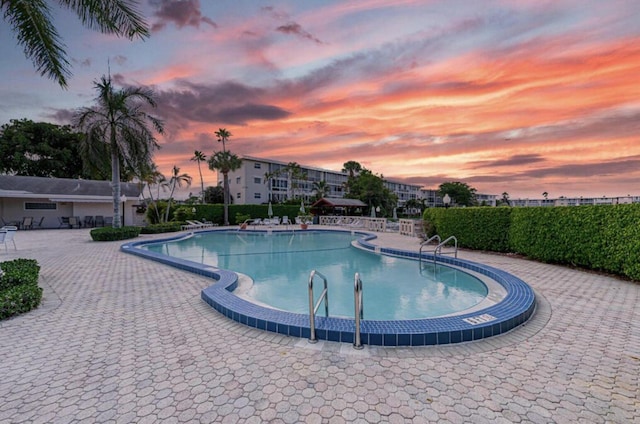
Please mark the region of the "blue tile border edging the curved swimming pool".
<svg viewBox="0 0 640 424"><path fill-rule="evenodd" d="M221 231L228 232L230 230L213 229L199 231L198 234ZM246 230L246 232L254 231ZM284 232L284 230L271 231L274 233ZM345 232L325 229L305 231ZM370 243L376 238L375 234L361 231L348 232L361 236L357 240L357 244L365 250L408 259L419 259L418 252L385 248ZM130 242L122 245L120 249L126 253L216 280L214 284L202 290L201 298L213 309L234 321L249 327L292 337L310 337L309 315L266 308L234 295L232 292L238 285L238 276L235 272L140 249L146 244L180 240L193 234L192 232L163 239ZM433 259L432 254L422 253L422 260L433 261ZM529 285L516 276L498 268L464 259L438 256L437 261L485 275L503 286L506 295L499 303L467 314L416 320L362 320L361 341L363 344L425 346L469 342L510 331L524 324L533 315L536 306L535 294ZM316 316L315 327L316 338L319 340L343 343L353 343L354 341L355 320L353 319Z"/></svg>

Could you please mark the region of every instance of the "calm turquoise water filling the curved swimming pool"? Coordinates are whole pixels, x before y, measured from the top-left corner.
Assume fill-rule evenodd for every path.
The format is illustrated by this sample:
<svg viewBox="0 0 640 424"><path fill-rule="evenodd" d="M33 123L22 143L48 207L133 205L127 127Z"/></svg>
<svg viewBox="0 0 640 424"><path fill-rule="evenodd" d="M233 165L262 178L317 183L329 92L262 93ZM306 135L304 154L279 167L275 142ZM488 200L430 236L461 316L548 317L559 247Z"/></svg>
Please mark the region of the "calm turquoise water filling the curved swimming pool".
<svg viewBox="0 0 640 424"><path fill-rule="evenodd" d="M309 313L312 270L328 280L330 316L353 317L353 280L363 283L364 319L412 320L451 315L487 296L475 276L430 261L378 255L351 245L358 238L335 232L210 232L142 246L151 252L248 275L247 295L294 313ZM322 280L316 279L316 297ZM322 308L321 308L322 310Z"/></svg>

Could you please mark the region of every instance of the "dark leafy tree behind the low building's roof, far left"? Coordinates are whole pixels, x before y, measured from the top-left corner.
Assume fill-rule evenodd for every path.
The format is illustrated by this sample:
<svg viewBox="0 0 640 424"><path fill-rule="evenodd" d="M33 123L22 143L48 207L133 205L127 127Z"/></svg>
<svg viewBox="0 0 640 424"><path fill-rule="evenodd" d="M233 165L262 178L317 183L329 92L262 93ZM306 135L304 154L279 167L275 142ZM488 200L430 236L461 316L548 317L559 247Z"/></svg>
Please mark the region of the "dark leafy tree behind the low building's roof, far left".
<svg viewBox="0 0 640 424"><path fill-rule="evenodd" d="M78 151L81 138L82 134L68 125L12 119L10 124L0 127L0 172L33 177L96 178L84 172Z"/></svg>

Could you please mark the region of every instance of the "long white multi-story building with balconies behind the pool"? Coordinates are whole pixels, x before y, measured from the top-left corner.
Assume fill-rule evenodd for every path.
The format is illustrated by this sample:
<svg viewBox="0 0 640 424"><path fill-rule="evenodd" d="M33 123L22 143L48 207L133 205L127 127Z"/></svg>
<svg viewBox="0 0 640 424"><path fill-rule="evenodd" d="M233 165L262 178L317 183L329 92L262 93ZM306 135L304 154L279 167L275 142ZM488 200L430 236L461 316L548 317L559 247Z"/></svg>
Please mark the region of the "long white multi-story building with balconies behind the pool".
<svg viewBox="0 0 640 424"><path fill-rule="evenodd" d="M325 197L344 197L349 174L340 171L300 165L304 178L295 178L282 169L287 163L271 159L244 156L240 169L229 172L229 192L236 204L282 202L292 197L310 200L315 197L316 183L324 182ZM386 187L398 196L398 206L421 197L419 185L385 179ZM218 181L222 175L218 172Z"/></svg>

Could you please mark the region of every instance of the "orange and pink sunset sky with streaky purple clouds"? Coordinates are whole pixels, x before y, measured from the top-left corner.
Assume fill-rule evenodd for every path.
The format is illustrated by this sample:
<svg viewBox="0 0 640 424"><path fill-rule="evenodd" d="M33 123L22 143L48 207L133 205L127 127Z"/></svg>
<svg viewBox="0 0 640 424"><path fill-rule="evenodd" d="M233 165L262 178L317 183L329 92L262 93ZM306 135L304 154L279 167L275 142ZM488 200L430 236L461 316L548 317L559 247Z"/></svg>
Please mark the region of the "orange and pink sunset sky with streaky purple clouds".
<svg viewBox="0 0 640 424"><path fill-rule="evenodd" d="M110 62L119 86L155 91L167 130L155 162L189 173L194 193L190 158L220 150L213 133L226 128L238 155L332 170L355 160L426 188L640 195L637 0L148 0L140 10L152 35L131 42L54 8L67 90L0 25L0 124L69 123Z"/></svg>

